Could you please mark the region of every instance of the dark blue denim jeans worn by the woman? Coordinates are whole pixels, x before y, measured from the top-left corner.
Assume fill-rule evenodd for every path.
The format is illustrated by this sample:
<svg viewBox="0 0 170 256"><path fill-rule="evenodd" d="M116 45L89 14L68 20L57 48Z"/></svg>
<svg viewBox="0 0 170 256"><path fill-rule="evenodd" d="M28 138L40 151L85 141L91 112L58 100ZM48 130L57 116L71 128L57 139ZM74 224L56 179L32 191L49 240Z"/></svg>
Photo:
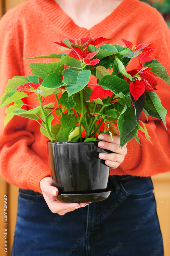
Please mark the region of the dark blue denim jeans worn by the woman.
<svg viewBox="0 0 170 256"><path fill-rule="evenodd" d="M151 178L112 175L108 188L106 200L63 216L20 189L11 255L163 256Z"/></svg>

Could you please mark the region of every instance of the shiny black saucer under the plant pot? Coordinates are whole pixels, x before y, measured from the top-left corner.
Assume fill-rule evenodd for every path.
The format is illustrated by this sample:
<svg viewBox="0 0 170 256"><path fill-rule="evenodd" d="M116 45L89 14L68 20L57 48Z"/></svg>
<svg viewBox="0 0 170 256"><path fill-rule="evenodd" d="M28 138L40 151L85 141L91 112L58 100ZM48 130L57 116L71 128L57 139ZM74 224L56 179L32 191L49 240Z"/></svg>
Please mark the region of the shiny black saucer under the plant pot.
<svg viewBox="0 0 170 256"><path fill-rule="evenodd" d="M92 192L92 190L90 192ZM56 198L60 202L64 203L99 202L107 199L110 195L110 192L110 189L105 188L102 189L102 191L100 192L94 191L93 193L86 194L58 194Z"/></svg>

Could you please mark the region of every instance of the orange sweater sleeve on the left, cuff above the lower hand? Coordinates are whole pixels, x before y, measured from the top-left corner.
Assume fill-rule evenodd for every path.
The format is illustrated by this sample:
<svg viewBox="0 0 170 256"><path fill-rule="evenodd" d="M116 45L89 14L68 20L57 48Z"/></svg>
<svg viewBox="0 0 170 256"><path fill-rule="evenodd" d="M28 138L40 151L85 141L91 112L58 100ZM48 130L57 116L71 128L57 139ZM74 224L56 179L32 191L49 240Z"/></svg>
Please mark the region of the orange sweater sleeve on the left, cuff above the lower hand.
<svg viewBox="0 0 170 256"><path fill-rule="evenodd" d="M0 21L0 96L5 91L8 79L24 76L22 33L16 11L16 8L9 10ZM15 186L42 193L40 181L50 176L50 169L30 149L35 138L26 130L28 119L15 116L3 130L5 116L3 107L0 109L0 174Z"/></svg>

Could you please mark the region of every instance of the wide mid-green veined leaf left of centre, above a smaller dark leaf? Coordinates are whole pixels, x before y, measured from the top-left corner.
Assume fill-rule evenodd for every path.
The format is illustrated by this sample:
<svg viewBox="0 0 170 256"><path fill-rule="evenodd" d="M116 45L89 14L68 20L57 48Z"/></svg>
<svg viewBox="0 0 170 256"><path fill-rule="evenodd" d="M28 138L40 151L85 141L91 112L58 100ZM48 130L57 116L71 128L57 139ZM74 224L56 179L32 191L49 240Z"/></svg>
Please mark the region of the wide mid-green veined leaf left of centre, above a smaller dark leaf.
<svg viewBox="0 0 170 256"><path fill-rule="evenodd" d="M57 62L36 62L36 63L28 63L32 74L44 79L47 77L50 73L58 73L61 75L62 70L64 69L63 66L63 60L57 61Z"/></svg>

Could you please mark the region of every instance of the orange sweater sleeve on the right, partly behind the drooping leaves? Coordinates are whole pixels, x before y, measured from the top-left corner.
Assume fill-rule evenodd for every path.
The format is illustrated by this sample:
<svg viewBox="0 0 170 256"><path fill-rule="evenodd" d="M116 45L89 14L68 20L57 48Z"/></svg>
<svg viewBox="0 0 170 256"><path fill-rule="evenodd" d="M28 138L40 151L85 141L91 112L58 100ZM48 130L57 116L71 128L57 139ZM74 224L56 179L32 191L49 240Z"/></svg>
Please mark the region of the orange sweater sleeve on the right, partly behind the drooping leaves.
<svg viewBox="0 0 170 256"><path fill-rule="evenodd" d="M156 48L154 54L170 75L170 31L163 17L155 10L158 16L158 27L155 26L150 31L150 37L145 38L146 43L151 43L151 47ZM148 27L149 29L149 27ZM153 33L152 33L153 32ZM145 34L145 31L143 31ZM141 40L141 39L140 39ZM156 94L161 99L161 103L167 110L166 124L167 131L163 122L148 116L141 115L141 120L145 122L151 142L153 145L140 135L141 146L135 139L127 143L128 153L123 163L116 169L117 174L130 174L137 176L152 176L158 173L170 171L170 88L164 81L157 79L158 85ZM112 170L111 170L112 172Z"/></svg>

